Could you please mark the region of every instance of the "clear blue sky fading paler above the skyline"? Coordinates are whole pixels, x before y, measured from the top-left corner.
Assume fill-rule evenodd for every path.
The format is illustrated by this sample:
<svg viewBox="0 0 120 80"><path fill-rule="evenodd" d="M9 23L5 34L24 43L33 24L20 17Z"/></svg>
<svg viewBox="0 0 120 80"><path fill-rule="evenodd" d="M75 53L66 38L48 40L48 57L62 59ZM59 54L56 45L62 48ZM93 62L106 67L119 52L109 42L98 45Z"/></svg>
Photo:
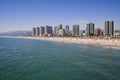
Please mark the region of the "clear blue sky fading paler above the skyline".
<svg viewBox="0 0 120 80"><path fill-rule="evenodd" d="M120 29L120 0L0 0L0 32L90 22L104 29L106 20Z"/></svg>

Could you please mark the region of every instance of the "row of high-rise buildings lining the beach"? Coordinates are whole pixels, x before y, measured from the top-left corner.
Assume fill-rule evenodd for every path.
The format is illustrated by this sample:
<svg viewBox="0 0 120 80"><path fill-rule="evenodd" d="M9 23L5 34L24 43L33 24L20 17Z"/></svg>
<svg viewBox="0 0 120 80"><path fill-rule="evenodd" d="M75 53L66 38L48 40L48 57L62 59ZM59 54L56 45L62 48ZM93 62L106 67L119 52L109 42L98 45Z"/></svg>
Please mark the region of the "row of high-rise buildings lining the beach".
<svg viewBox="0 0 120 80"><path fill-rule="evenodd" d="M114 34L114 21L105 21L104 29L95 27L94 23L86 24L86 29L80 29L78 24L72 26L72 30L69 29L69 25L63 27L62 24L52 27L52 26L40 26L32 28L32 36L41 36L41 37L83 37L83 36L107 36L115 37L117 34ZM43 29L44 28L44 29Z"/></svg>

